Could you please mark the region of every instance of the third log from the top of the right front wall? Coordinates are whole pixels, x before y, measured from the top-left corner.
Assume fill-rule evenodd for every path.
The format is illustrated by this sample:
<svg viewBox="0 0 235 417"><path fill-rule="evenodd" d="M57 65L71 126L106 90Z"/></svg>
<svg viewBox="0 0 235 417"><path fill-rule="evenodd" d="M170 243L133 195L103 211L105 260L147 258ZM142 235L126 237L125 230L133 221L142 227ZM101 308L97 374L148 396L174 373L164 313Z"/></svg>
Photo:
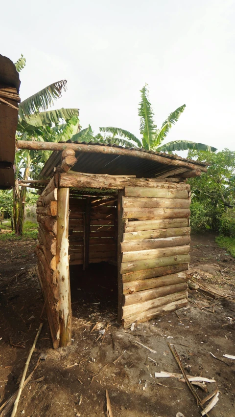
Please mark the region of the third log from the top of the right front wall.
<svg viewBox="0 0 235 417"><path fill-rule="evenodd" d="M123 219L180 219L180 218L189 218L190 210L189 209L154 209L154 208L144 208L141 207L124 207L122 212Z"/></svg>

